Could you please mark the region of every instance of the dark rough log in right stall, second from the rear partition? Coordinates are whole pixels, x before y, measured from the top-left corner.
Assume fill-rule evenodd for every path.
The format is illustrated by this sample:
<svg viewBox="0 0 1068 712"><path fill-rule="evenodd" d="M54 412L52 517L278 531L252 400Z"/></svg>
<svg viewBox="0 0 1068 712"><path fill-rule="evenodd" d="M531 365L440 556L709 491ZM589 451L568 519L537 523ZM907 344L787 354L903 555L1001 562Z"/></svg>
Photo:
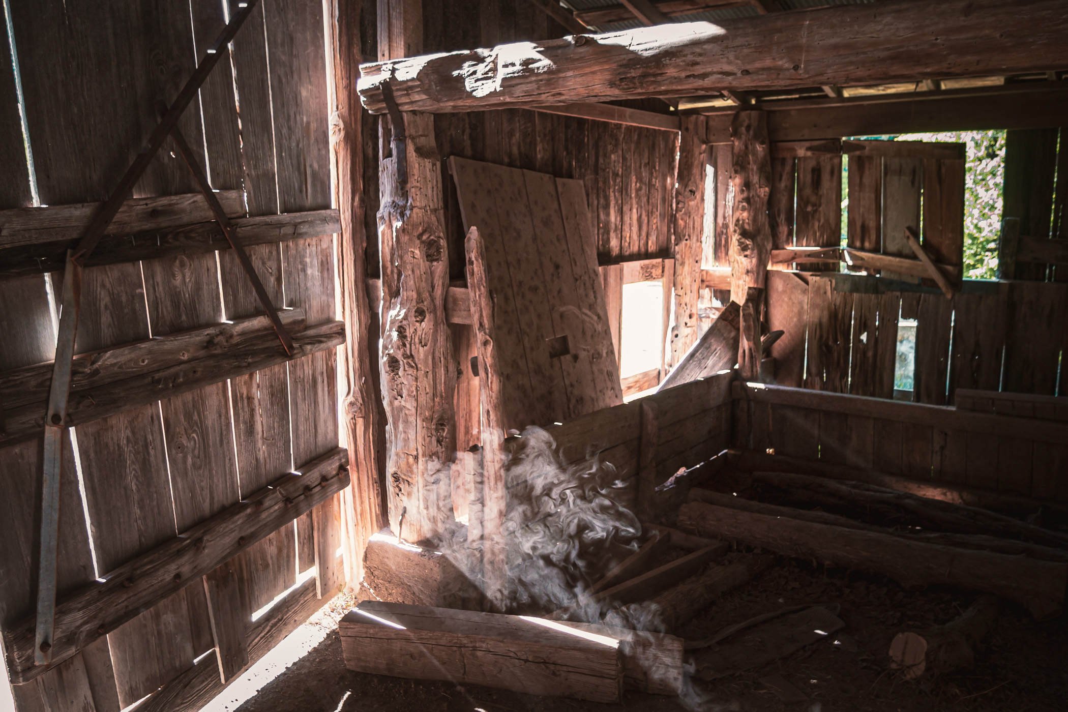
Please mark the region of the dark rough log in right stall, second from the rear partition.
<svg viewBox="0 0 1068 712"><path fill-rule="evenodd" d="M911 518L925 526L944 532L988 534L1068 549L1068 535L1059 532L1043 529L986 509L929 500L875 485L834 481L784 472L754 472L753 481L780 487L789 491L791 497L801 501L863 507L865 511L889 519Z"/></svg>

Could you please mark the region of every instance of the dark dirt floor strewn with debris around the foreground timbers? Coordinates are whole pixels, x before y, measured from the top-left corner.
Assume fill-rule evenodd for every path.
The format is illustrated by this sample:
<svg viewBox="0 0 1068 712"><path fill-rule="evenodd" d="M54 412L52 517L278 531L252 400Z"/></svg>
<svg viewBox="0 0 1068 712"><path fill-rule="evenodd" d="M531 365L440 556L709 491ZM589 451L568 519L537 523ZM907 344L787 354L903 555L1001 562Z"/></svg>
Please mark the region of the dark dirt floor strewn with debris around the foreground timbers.
<svg viewBox="0 0 1068 712"><path fill-rule="evenodd" d="M765 667L711 682L697 681L682 698L627 692L622 705L534 697L487 687L459 687L364 675L345 668L334 624L309 654L245 702L240 712L548 712L555 710L813 710L833 711L1068 711L1068 620L1035 622L1009 605L971 670L933 683L901 679L890 669L893 636L944 623L973 600L968 592L929 588L907 591L894 582L844 569L778 558L748 585L725 595L678 631L688 639L787 605L837 603L847 627ZM331 624L351 603L336 600ZM807 702L785 705L761 682L782 675Z"/></svg>

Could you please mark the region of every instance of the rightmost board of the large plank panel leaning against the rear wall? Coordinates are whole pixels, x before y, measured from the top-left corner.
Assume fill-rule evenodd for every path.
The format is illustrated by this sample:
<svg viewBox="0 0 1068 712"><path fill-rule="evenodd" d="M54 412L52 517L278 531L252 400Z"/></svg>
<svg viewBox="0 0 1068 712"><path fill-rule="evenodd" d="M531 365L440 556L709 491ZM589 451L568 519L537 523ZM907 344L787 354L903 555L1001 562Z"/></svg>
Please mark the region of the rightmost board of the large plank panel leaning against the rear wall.
<svg viewBox="0 0 1068 712"><path fill-rule="evenodd" d="M555 183L566 233L564 247L571 263L579 307L578 311L568 310L562 317L566 325L584 335L582 349L590 360L594 387L599 394L598 402L600 405L598 408L616 406L623 402L619 366L616 361L619 315L616 315L616 329L613 334L604 288L597 270L597 236L594 232L591 211L586 209L582 183L564 179L556 179ZM617 267L616 271L619 272L618 276L622 281L622 267ZM622 291L619 297L621 300L617 304L622 307ZM665 301L664 305L666 307L669 302ZM590 318L590 315L585 313L587 308L593 311L593 318ZM582 321L581 327L575 323L579 319ZM666 319L664 325L666 329Z"/></svg>

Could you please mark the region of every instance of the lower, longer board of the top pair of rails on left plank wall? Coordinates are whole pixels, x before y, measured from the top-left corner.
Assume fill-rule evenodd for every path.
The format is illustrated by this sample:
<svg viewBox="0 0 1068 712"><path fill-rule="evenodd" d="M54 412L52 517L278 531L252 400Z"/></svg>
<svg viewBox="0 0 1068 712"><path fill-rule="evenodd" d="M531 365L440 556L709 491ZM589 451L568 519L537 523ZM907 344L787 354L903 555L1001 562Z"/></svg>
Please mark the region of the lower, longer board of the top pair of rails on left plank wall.
<svg viewBox="0 0 1068 712"><path fill-rule="evenodd" d="M187 223L174 222L172 219L169 224L155 230L119 237L106 236L85 260L85 267L230 249L219 223L188 224L188 219L185 220ZM245 247L251 247L285 242L301 237L331 235L341 230L341 220L337 210L310 210L238 218L232 220L231 225L234 227L237 240ZM77 239L62 242L49 240L4 250L0 253L3 257L0 260L0 278L61 271L65 265L67 249L76 243Z"/></svg>

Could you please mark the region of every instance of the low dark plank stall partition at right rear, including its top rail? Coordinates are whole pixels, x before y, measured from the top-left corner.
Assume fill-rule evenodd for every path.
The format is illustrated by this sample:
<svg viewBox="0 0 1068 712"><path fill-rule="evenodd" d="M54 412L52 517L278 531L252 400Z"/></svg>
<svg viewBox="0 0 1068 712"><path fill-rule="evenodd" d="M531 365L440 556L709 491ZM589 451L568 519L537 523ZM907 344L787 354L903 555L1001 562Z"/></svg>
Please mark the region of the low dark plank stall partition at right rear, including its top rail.
<svg viewBox="0 0 1068 712"><path fill-rule="evenodd" d="M734 389L754 410L766 409L751 449L1068 501L1063 422L776 385Z"/></svg>

